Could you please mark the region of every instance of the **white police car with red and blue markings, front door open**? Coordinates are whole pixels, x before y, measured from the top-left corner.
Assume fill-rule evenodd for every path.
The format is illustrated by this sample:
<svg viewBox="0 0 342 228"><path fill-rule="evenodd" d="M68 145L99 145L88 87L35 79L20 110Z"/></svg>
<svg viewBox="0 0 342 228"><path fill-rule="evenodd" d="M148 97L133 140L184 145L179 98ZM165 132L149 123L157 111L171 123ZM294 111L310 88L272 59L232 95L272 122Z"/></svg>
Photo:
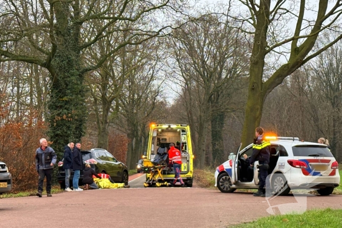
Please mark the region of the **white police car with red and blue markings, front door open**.
<svg viewBox="0 0 342 228"><path fill-rule="evenodd" d="M291 189L308 188L316 189L321 195L330 195L339 186L339 164L326 145L300 142L299 138L293 137L272 136L266 139L271 143L268 170L271 175L268 177L270 187L277 195L286 195ZM252 146L239 148L236 156L230 156L216 168L215 187L221 192L258 188L258 162L254 163L254 168L248 168Z"/></svg>

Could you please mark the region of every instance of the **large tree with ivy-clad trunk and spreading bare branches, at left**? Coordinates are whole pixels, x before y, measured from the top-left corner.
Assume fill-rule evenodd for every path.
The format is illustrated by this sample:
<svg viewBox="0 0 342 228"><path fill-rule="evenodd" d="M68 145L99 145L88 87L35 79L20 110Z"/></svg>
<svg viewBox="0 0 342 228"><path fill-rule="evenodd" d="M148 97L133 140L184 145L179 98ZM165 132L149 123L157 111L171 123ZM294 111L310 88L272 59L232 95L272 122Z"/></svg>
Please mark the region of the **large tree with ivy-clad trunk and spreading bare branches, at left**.
<svg viewBox="0 0 342 228"><path fill-rule="evenodd" d="M86 121L85 73L98 69L127 45L140 44L169 33L174 15L182 10L177 0L1 0L0 62L21 61L50 73L49 135L57 151L70 139L79 141ZM168 20L159 20L165 16ZM177 16L177 15L176 15ZM96 30L94 23L102 22ZM123 26L123 24L141 26ZM83 52L114 31L129 36L94 64Z"/></svg>

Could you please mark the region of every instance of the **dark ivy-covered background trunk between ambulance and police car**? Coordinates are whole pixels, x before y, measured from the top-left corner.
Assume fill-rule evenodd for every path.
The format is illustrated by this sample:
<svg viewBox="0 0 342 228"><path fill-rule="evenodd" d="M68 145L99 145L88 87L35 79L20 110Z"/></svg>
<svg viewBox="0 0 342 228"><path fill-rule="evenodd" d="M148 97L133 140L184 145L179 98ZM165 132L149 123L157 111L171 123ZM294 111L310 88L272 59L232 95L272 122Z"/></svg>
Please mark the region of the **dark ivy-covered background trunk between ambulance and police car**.
<svg viewBox="0 0 342 228"><path fill-rule="evenodd" d="M223 137L222 130L226 115L217 112L212 116L212 148L213 148L213 166L216 167L224 162Z"/></svg>

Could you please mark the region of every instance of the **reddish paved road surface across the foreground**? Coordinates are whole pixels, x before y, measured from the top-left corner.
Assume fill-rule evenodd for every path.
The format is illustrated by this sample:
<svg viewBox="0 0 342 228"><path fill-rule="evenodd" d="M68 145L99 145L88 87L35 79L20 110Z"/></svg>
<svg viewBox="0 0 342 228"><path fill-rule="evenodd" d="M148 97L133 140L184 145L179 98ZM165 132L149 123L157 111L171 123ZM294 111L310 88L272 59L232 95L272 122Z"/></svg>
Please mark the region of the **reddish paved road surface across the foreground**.
<svg viewBox="0 0 342 228"><path fill-rule="evenodd" d="M140 180L144 177L136 182ZM281 196L271 200L199 187L64 192L53 197L0 199L0 227L227 227L268 216L270 206L275 206L277 213L284 208L342 208L342 196Z"/></svg>

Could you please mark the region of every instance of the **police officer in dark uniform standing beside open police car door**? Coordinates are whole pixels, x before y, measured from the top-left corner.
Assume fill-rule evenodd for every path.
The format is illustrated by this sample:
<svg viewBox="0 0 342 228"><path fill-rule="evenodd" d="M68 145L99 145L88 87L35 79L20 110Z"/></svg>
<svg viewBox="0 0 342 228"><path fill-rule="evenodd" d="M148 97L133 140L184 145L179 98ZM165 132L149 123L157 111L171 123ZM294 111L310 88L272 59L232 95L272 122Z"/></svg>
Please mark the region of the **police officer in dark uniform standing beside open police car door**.
<svg viewBox="0 0 342 228"><path fill-rule="evenodd" d="M249 162L251 166L254 166L254 162L259 161L259 189L253 195L265 197L264 187L268 175L268 164L270 163L271 143L264 139L263 134L264 129L260 126L256 127L256 139L254 140L253 153Z"/></svg>

